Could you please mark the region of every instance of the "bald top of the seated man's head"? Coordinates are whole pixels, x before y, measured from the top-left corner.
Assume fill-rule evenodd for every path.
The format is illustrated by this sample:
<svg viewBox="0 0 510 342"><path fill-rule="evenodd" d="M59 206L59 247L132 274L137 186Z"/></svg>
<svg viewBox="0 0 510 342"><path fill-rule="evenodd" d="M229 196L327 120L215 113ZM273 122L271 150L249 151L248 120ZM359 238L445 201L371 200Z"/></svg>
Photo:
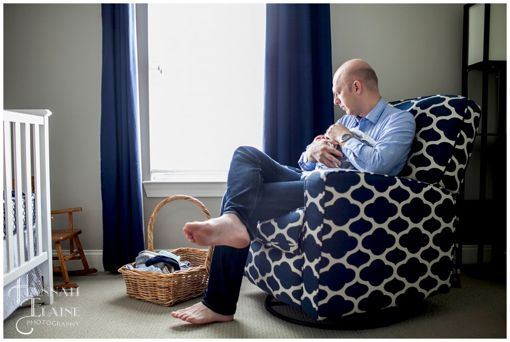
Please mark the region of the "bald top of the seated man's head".
<svg viewBox="0 0 510 342"><path fill-rule="evenodd" d="M342 64L335 72L333 81L341 83L349 91L352 90L354 81L359 81L365 91L379 96L377 75L372 67L361 59L353 59Z"/></svg>

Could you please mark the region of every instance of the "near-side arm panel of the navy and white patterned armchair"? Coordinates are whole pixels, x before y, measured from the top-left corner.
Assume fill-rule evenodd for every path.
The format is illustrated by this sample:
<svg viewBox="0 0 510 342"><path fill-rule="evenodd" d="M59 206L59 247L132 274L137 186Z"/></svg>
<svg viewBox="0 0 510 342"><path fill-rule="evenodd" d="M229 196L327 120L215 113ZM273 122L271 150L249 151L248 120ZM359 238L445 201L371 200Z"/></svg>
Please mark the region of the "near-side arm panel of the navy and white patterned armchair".
<svg viewBox="0 0 510 342"><path fill-rule="evenodd" d="M454 203L443 189L412 179L312 172L305 183L303 307L330 317L449 291ZM342 300L332 301L337 295Z"/></svg>

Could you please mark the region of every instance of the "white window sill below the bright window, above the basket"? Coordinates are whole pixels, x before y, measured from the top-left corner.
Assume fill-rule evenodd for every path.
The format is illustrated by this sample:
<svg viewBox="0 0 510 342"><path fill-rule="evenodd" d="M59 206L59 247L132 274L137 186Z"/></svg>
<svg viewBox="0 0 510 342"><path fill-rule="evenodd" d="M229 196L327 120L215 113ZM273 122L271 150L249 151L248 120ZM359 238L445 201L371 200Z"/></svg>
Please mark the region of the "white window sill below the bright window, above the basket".
<svg viewBox="0 0 510 342"><path fill-rule="evenodd" d="M146 180L142 181L147 197L169 197L188 195L192 197L223 197L226 181L175 181Z"/></svg>

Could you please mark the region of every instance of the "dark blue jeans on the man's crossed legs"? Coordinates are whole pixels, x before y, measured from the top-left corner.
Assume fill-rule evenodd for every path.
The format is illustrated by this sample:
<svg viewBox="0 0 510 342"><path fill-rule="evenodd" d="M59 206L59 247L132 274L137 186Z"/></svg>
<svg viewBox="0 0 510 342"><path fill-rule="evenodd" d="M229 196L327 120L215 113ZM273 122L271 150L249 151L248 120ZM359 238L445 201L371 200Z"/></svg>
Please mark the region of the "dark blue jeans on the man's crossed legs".
<svg viewBox="0 0 510 342"><path fill-rule="evenodd" d="M282 166L254 147L239 147L228 171L220 215L236 214L253 239L259 221L304 205L304 181L300 178L301 170ZM214 247L204 305L224 315L236 312L248 251L249 246Z"/></svg>

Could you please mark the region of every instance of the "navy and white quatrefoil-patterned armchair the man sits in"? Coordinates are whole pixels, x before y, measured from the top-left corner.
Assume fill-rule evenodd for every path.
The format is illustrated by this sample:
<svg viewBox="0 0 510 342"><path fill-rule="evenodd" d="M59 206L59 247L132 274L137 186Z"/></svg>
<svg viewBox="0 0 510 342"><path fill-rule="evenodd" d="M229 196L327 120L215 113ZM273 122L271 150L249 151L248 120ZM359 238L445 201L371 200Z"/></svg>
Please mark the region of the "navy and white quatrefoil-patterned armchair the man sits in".
<svg viewBox="0 0 510 342"><path fill-rule="evenodd" d="M435 95L390 103L416 118L397 177L316 170L304 206L259 223L245 276L317 320L374 312L450 291L455 196L479 122L472 100Z"/></svg>

